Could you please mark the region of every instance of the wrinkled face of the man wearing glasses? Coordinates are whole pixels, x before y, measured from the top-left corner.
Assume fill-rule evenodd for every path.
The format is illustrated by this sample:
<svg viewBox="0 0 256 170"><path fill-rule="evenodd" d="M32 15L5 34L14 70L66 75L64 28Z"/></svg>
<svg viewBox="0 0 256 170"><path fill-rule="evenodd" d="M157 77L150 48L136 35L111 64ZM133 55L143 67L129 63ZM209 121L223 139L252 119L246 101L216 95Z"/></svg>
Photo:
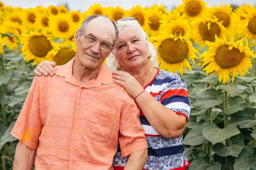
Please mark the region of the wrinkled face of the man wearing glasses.
<svg viewBox="0 0 256 170"><path fill-rule="evenodd" d="M114 44L116 33L113 23L105 17L97 17L91 20L84 30L81 30L85 36L93 37L100 42L106 42L110 45ZM106 57L111 53L100 49L100 42L96 45L89 45L84 42L84 36L80 31L76 31L75 43L76 59L79 59L81 65L85 68L95 69L99 68Z"/></svg>

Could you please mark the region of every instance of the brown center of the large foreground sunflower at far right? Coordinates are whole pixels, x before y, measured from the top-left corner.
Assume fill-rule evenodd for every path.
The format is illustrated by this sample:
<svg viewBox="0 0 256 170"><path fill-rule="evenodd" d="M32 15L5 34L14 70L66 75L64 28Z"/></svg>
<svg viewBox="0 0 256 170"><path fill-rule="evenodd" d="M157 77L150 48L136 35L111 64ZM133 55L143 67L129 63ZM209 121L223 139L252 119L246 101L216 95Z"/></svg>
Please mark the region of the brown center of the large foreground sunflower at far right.
<svg viewBox="0 0 256 170"><path fill-rule="evenodd" d="M244 54L237 48L228 49L228 45L223 45L218 48L215 54L215 61L222 68L231 68L239 65L244 58Z"/></svg>

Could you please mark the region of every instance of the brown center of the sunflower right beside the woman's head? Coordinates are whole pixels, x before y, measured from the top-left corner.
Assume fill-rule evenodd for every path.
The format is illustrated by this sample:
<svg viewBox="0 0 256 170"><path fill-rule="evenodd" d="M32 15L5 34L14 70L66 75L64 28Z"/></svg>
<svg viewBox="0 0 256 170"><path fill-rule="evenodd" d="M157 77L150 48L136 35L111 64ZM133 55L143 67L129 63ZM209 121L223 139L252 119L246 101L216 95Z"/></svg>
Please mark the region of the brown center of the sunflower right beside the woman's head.
<svg viewBox="0 0 256 170"><path fill-rule="evenodd" d="M180 39L167 39L159 46L160 56L169 63L181 62L185 59L188 49L187 45Z"/></svg>

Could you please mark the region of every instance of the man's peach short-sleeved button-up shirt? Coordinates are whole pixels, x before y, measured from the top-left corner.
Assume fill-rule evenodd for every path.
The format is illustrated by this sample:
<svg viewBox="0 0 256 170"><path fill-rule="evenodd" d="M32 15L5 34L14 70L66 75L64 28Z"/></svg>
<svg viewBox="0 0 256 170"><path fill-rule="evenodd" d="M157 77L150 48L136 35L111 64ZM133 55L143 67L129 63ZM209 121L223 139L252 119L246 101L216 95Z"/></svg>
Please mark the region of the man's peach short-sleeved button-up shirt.
<svg viewBox="0 0 256 170"><path fill-rule="evenodd" d="M113 170L118 142L123 157L147 148L140 110L105 65L80 86L74 61L34 78L11 134L37 150L36 170Z"/></svg>

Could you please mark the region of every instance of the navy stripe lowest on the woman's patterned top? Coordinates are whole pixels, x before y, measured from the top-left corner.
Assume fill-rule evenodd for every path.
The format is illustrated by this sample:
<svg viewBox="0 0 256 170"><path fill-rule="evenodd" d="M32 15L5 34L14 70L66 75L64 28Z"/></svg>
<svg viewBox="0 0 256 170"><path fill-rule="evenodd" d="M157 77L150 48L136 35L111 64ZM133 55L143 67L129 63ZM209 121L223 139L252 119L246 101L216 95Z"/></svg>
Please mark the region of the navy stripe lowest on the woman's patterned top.
<svg viewBox="0 0 256 170"><path fill-rule="evenodd" d="M148 147L148 155L156 156L156 157L176 155L178 153L183 153L183 151L184 151L183 145L178 145L173 147L164 147L159 149L153 149L152 147ZM117 152L121 152L119 144L118 144Z"/></svg>

